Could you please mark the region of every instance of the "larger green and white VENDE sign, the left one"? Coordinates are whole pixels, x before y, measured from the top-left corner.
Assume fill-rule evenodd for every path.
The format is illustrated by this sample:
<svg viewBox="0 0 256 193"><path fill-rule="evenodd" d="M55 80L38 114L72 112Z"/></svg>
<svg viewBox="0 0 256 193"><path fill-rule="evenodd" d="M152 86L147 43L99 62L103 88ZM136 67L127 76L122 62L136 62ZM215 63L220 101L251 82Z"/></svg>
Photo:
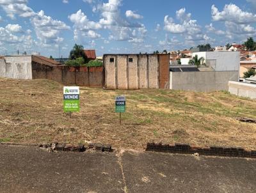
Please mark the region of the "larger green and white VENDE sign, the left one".
<svg viewBox="0 0 256 193"><path fill-rule="evenodd" d="M63 87L63 109L64 112L80 111L79 86Z"/></svg>

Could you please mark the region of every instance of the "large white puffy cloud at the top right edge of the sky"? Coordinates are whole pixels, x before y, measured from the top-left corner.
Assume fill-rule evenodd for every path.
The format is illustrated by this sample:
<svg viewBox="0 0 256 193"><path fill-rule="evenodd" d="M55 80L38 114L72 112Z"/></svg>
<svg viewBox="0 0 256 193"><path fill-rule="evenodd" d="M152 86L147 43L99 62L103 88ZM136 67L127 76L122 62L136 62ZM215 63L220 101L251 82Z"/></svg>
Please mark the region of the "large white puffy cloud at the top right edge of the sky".
<svg viewBox="0 0 256 193"><path fill-rule="evenodd" d="M250 12L243 12L236 4L226 4L222 12L212 5L212 20L228 21L237 24L248 24L256 22L256 15Z"/></svg>

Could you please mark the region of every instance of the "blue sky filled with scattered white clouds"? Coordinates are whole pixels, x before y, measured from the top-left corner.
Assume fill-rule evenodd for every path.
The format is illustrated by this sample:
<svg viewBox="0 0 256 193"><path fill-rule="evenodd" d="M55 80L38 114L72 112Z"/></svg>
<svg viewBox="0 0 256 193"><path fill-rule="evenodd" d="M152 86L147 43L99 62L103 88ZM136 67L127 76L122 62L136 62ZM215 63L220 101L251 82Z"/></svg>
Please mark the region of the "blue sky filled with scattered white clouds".
<svg viewBox="0 0 256 193"><path fill-rule="evenodd" d="M0 55L68 57L75 43L111 53L256 39L256 0L0 0Z"/></svg>

